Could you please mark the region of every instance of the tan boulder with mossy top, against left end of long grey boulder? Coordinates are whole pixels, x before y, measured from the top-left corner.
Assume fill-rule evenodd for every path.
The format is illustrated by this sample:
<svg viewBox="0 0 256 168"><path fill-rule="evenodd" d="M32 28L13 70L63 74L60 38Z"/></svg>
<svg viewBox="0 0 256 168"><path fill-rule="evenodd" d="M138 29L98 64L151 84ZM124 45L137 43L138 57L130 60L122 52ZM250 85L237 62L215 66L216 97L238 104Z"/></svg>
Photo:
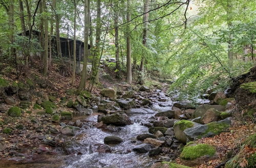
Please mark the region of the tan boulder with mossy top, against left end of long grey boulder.
<svg viewBox="0 0 256 168"><path fill-rule="evenodd" d="M184 130L197 125L199 124L188 120L180 120L176 122L174 124L174 134L176 139L178 139L181 143L186 144L187 136L185 135Z"/></svg>

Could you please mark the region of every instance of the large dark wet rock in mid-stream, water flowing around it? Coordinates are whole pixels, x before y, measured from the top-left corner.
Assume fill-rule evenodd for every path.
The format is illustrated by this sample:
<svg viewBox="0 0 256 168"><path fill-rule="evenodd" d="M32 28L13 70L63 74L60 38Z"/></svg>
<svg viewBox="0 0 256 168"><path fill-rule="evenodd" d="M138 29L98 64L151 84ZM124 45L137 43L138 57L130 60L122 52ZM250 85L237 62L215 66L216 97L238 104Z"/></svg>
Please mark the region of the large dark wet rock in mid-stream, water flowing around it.
<svg viewBox="0 0 256 168"><path fill-rule="evenodd" d="M117 126L133 124L133 121L123 112L106 115L102 117L102 121L104 124L113 124Z"/></svg>

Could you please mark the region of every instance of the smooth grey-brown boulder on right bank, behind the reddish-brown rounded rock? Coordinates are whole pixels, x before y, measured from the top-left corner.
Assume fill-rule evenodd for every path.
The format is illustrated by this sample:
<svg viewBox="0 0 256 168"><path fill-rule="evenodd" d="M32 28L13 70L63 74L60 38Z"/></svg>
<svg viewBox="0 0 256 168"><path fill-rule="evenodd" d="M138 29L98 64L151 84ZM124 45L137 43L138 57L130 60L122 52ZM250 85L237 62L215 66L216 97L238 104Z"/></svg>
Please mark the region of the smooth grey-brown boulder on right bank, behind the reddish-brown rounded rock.
<svg viewBox="0 0 256 168"><path fill-rule="evenodd" d="M206 111L210 108L214 108L218 111L224 111L225 107L223 107L222 105L210 105L210 104L202 104L199 107L197 107L197 109L194 111L193 115L191 116L193 119L197 118L197 117L202 117L203 114L206 113Z"/></svg>

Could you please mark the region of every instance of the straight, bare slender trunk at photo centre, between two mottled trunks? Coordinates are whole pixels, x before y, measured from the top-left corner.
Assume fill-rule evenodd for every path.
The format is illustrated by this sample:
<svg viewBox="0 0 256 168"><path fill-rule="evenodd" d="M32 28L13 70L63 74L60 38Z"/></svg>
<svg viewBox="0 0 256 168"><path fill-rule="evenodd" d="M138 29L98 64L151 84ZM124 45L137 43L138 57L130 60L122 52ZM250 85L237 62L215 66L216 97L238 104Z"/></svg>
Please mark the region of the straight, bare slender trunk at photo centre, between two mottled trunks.
<svg viewBox="0 0 256 168"><path fill-rule="evenodd" d="M126 21L131 20L131 0L127 0L127 11L126 11ZM127 68L127 82L132 83L132 46L130 39L130 24L126 24L126 68Z"/></svg>

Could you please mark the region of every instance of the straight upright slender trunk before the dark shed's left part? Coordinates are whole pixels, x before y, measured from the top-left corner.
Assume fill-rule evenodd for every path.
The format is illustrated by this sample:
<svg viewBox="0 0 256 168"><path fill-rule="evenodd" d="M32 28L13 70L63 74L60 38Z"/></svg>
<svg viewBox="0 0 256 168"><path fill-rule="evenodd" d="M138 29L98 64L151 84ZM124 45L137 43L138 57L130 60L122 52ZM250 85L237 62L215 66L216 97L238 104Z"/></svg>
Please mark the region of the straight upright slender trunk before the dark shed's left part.
<svg viewBox="0 0 256 168"><path fill-rule="evenodd" d="M44 12L47 12L46 9L46 0L42 0L42 8ZM45 55L44 55L44 71L43 74L47 75L48 73L48 19L45 18L44 21L44 28L45 28Z"/></svg>

